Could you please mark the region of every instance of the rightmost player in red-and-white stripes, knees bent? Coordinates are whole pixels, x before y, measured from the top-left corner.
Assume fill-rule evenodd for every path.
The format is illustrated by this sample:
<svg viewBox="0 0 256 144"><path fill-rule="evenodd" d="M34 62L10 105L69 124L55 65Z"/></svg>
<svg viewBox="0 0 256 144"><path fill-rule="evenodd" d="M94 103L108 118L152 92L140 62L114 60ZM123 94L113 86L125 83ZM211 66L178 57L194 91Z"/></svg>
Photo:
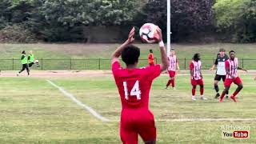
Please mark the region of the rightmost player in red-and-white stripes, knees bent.
<svg viewBox="0 0 256 144"><path fill-rule="evenodd" d="M221 97L219 98L218 102L223 102L224 95L226 91L230 90L231 84L234 82L238 86L237 90L234 91L234 94L230 96L234 102L237 102L235 96L242 90L242 81L241 78L238 77L238 70L244 70L238 66L238 58L235 58L234 50L230 51L230 58L225 62L226 67L226 81L224 82L225 89L222 92ZM247 71L247 70L244 70Z"/></svg>

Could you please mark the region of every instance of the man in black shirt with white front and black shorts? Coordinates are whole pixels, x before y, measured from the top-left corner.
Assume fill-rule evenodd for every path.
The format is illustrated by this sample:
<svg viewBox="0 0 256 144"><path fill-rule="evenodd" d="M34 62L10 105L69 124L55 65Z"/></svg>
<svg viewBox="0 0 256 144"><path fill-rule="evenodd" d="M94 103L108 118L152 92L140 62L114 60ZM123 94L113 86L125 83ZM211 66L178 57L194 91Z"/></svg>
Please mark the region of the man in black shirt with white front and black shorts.
<svg viewBox="0 0 256 144"><path fill-rule="evenodd" d="M214 68L217 66L215 78L214 78L214 89L216 90L215 98L218 98L220 94L218 93L218 82L222 79L223 82L225 82L226 79L226 68L225 68L225 62L228 60L229 57L225 54L224 49L219 49L219 54L217 54L217 58L214 62L214 65L210 68L210 70L214 70ZM226 98L228 97L229 91L226 92Z"/></svg>

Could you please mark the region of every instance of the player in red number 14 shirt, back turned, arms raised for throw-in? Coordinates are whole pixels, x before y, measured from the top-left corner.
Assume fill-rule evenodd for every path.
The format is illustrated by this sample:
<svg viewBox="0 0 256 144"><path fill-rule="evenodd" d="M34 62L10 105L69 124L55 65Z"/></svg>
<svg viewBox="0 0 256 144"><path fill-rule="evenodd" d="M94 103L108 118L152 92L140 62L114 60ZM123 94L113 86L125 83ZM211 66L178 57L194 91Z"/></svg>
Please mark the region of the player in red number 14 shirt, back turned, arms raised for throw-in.
<svg viewBox="0 0 256 144"><path fill-rule="evenodd" d="M149 110L150 87L154 78L168 66L162 32L159 28L157 31L162 64L137 68L140 50L130 45L134 42L134 28L126 42L112 55L112 73L122 102L120 137L125 144L138 143L138 135L145 143L156 142L154 115ZM120 55L126 68L122 68L118 62Z"/></svg>

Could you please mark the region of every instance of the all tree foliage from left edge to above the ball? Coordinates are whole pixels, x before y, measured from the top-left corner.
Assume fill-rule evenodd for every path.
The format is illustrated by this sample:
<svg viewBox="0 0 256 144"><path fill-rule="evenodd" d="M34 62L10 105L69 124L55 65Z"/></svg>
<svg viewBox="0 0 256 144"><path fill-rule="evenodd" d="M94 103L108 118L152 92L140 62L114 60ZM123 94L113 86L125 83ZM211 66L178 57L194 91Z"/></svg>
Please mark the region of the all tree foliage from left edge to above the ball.
<svg viewBox="0 0 256 144"><path fill-rule="evenodd" d="M25 23L45 41L81 42L82 26L125 25L136 6L136 0L0 0L0 30Z"/></svg>

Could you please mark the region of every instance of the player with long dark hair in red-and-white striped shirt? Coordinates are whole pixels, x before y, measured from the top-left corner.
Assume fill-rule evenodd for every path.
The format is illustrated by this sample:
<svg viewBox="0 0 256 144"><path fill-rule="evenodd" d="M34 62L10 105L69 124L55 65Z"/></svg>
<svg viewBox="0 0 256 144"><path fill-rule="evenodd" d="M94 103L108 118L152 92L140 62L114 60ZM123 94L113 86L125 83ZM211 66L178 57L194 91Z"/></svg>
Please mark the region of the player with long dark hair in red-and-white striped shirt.
<svg viewBox="0 0 256 144"><path fill-rule="evenodd" d="M195 90L197 85L200 86L200 99L206 99L203 96L203 81L202 81L202 62L200 61L200 54L194 54L193 60L190 62L190 81L192 85L192 100L195 98Z"/></svg>

